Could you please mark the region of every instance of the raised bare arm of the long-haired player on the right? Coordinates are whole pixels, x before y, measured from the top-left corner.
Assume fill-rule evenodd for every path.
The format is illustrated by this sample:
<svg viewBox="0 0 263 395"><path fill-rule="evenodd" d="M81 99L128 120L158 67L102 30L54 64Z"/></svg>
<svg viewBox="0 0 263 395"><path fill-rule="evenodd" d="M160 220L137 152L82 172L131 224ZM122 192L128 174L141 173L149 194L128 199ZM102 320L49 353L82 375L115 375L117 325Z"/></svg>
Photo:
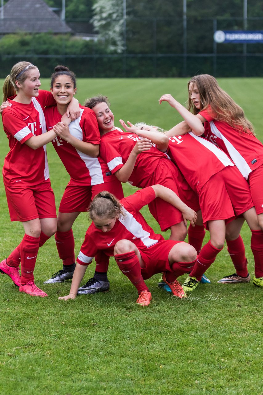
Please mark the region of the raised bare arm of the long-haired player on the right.
<svg viewBox="0 0 263 395"><path fill-rule="evenodd" d="M183 117L183 119L188 124L189 128L194 132L196 135L202 135L205 131L203 127L203 122L201 121L198 115L194 115L188 111L181 103L177 102L175 98L173 98L170 94L164 94L160 97L159 103L168 102L171 107L175 108L178 113Z"/></svg>

